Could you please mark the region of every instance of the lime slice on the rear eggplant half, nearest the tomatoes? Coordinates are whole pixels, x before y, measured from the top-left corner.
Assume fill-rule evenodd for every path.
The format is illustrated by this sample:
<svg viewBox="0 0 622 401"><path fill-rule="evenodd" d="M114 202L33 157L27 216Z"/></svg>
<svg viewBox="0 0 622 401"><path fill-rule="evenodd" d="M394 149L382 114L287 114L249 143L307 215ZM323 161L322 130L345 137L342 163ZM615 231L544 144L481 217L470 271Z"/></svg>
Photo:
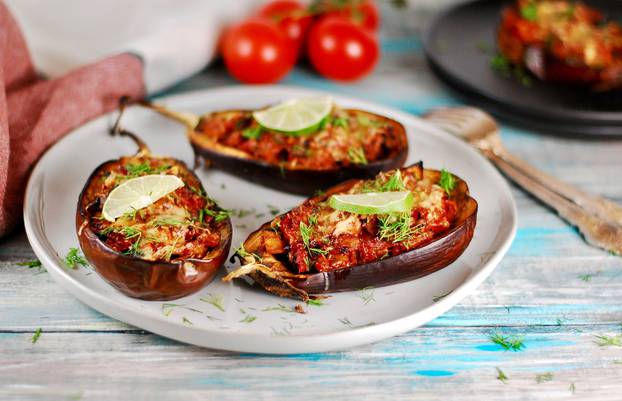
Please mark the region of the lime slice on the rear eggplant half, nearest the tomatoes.
<svg viewBox="0 0 622 401"><path fill-rule="evenodd" d="M253 113L263 128L290 135L304 135L317 130L333 109L330 98L291 99Z"/></svg>

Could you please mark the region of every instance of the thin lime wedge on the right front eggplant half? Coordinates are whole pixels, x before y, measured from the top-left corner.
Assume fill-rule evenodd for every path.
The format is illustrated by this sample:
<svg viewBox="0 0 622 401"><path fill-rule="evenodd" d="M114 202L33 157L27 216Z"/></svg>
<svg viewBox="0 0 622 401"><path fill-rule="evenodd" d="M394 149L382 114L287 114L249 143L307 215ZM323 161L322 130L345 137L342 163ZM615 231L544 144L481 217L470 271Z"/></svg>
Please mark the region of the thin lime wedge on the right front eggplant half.
<svg viewBox="0 0 622 401"><path fill-rule="evenodd" d="M413 202L410 191L333 195L328 199L333 209L357 214L405 213L412 209Z"/></svg>

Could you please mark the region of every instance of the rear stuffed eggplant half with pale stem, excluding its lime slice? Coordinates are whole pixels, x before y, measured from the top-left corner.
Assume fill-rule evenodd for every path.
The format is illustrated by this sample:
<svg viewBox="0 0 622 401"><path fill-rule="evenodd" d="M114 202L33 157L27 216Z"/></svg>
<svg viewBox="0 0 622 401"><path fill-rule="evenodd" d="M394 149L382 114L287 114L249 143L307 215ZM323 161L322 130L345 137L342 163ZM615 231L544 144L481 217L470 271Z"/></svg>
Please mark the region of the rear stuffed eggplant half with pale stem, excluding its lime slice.
<svg viewBox="0 0 622 401"><path fill-rule="evenodd" d="M406 131L390 118L332 106L302 132L262 126L252 110L193 116L142 102L186 125L195 154L206 165L280 191L311 195L351 178L370 178L401 167L408 153Z"/></svg>

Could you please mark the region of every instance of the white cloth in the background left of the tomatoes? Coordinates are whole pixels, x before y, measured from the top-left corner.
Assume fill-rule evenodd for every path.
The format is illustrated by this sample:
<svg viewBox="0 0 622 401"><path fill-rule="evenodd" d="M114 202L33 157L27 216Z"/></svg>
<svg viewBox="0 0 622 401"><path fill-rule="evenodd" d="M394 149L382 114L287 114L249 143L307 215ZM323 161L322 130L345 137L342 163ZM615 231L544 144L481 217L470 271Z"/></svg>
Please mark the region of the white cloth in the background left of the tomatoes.
<svg viewBox="0 0 622 401"><path fill-rule="evenodd" d="M34 63L62 75L106 56L142 58L147 92L200 71L216 53L225 24L261 0L7 0Z"/></svg>

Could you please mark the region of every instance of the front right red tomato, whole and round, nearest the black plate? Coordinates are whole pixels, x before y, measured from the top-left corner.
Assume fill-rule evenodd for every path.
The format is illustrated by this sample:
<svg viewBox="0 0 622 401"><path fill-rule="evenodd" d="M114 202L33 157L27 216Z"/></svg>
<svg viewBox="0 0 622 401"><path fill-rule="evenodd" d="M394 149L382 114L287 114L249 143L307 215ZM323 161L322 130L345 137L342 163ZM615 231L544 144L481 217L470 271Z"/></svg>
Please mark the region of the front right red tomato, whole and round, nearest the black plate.
<svg viewBox="0 0 622 401"><path fill-rule="evenodd" d="M327 78L353 81L376 65L379 47L365 29L341 18L324 18L309 32L307 53L311 64Z"/></svg>

